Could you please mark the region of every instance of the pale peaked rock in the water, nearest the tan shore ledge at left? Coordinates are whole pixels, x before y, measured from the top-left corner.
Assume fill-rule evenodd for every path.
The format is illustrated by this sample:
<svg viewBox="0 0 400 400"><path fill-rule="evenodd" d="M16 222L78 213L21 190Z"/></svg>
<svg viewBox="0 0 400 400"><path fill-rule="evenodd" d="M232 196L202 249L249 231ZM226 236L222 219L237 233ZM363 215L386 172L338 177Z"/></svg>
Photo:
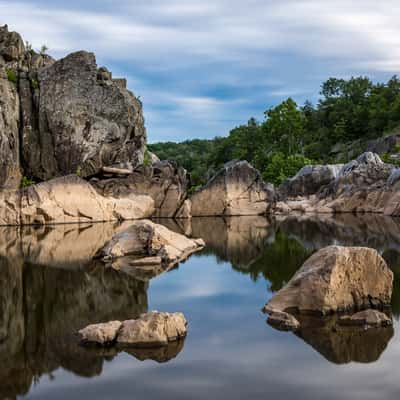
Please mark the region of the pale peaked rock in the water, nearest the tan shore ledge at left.
<svg viewBox="0 0 400 400"><path fill-rule="evenodd" d="M160 264L173 265L187 258L191 253L204 247L202 239L189 239L179 233L170 231L165 226L149 220L133 223L126 230L116 234L99 252L104 261L114 261L112 266L120 269L126 263L149 261L154 266L155 260ZM133 260L131 257L135 257ZM149 258L151 257L151 258Z"/></svg>

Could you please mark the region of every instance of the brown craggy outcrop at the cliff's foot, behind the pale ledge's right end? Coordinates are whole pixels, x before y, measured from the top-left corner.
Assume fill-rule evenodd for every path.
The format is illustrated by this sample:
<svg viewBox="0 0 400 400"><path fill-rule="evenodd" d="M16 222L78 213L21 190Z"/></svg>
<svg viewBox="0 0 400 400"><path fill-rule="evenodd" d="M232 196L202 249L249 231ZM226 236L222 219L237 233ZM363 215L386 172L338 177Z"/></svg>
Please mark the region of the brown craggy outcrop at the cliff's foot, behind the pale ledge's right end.
<svg viewBox="0 0 400 400"><path fill-rule="evenodd" d="M93 186L103 196L129 198L148 195L154 200L155 217L172 218L186 198L188 177L184 168L170 161L142 165L125 177L93 180Z"/></svg>

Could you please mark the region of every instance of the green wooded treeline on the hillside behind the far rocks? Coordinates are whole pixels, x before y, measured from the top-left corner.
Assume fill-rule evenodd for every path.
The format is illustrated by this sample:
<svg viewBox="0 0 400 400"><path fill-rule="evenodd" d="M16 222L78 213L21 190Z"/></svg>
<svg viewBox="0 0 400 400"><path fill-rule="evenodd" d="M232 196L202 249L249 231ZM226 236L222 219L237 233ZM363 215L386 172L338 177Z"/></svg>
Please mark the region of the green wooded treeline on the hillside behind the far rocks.
<svg viewBox="0 0 400 400"><path fill-rule="evenodd" d="M316 105L299 106L288 98L250 118L227 137L149 145L161 159L176 161L191 174L192 186L204 184L225 162L247 160L266 181L280 184L310 163L330 161L337 143L381 137L400 124L400 80L373 83L366 77L330 78L321 86ZM348 160L341 160L346 162Z"/></svg>

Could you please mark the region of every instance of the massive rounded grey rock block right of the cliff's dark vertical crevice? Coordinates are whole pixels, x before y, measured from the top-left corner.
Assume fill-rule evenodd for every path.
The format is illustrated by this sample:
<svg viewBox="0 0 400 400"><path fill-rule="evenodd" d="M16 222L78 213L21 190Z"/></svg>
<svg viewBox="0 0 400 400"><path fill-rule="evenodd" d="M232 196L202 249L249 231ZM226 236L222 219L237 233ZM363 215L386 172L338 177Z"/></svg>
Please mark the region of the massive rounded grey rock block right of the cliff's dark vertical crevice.
<svg viewBox="0 0 400 400"><path fill-rule="evenodd" d="M146 133L141 102L99 73L94 54L80 51L41 69L40 163L27 165L41 179L103 166L133 169L143 161Z"/></svg>

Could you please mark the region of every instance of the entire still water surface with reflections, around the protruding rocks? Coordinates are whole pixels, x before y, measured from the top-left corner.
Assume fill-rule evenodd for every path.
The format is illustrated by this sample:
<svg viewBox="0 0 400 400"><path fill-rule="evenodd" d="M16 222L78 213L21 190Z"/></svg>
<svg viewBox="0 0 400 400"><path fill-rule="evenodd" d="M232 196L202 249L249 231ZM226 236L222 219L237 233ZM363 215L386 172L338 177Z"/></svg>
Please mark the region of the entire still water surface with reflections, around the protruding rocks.
<svg viewBox="0 0 400 400"><path fill-rule="evenodd" d="M125 274L91 261L115 224L0 229L0 398L397 399L400 220L261 217L164 220L206 248L177 268ZM376 248L395 274L394 329L274 330L261 308L317 249ZM73 333L147 310L182 311L185 341L86 349Z"/></svg>

